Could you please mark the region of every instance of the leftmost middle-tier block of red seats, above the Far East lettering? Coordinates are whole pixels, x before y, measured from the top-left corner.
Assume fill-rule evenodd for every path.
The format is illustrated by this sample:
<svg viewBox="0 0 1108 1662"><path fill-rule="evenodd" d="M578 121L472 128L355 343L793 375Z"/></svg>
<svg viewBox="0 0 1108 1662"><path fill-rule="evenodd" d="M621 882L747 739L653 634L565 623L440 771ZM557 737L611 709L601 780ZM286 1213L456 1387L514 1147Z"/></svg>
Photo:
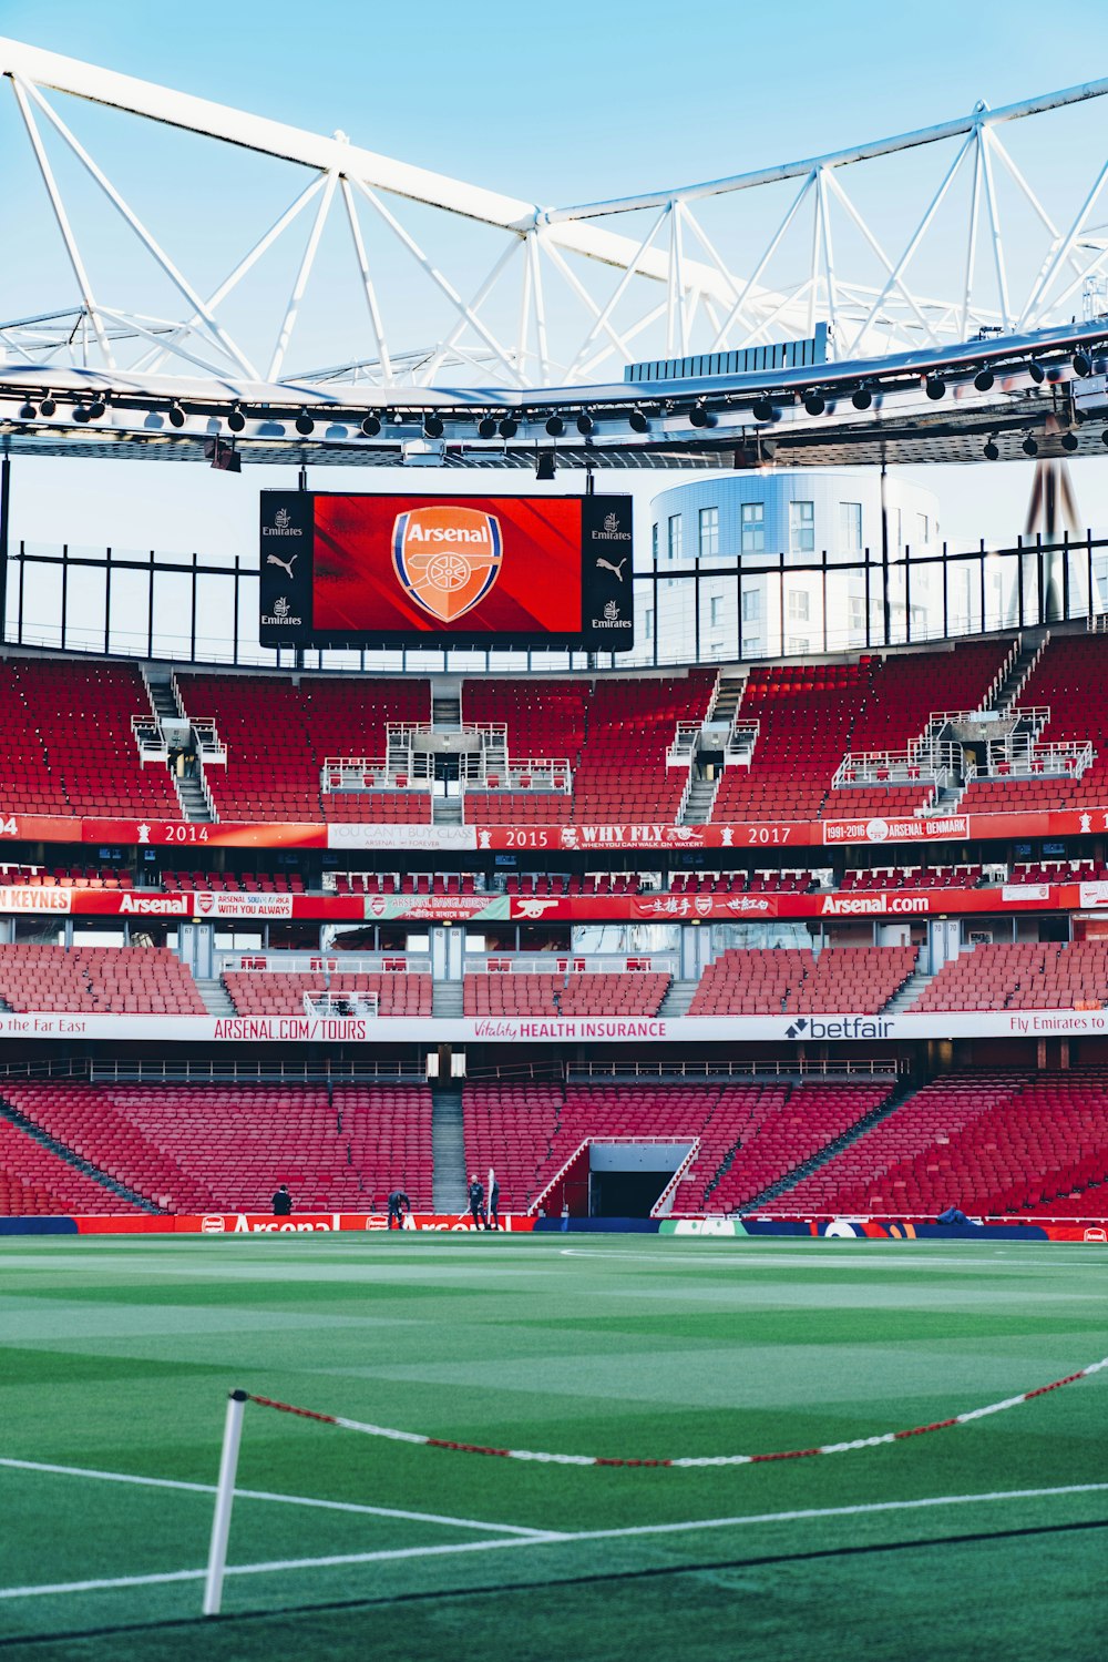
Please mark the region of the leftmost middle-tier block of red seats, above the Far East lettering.
<svg viewBox="0 0 1108 1662"><path fill-rule="evenodd" d="M0 946L0 999L13 1010L86 1015L206 1015L196 982L168 947Z"/></svg>

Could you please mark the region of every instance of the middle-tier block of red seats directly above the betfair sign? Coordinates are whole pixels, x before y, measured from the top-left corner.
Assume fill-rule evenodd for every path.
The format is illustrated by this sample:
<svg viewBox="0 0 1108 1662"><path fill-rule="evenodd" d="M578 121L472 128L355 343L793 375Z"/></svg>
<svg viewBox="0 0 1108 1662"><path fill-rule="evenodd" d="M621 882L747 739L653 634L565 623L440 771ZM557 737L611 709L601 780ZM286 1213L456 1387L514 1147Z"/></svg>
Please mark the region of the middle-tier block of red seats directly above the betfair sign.
<svg viewBox="0 0 1108 1662"><path fill-rule="evenodd" d="M708 966L689 1015L781 1015L841 1010L874 1015L915 969L915 947L728 947Z"/></svg>

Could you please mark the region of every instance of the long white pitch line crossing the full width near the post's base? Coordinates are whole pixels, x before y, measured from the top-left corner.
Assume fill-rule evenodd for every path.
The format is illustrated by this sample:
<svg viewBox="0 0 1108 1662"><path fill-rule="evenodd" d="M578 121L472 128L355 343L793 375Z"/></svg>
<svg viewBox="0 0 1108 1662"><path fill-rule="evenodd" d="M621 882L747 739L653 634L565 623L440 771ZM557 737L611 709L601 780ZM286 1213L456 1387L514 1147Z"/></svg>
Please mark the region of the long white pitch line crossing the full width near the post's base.
<svg viewBox="0 0 1108 1662"><path fill-rule="evenodd" d="M176 1484L174 1484L176 1487ZM228 1576L287 1574L294 1569L336 1569L349 1564L384 1564L397 1559L444 1557L462 1552L497 1552L507 1547L576 1546L581 1541L625 1541L636 1536L696 1534L703 1529L743 1529L753 1524L791 1524L817 1517L860 1517L874 1512L912 1512L942 1506L980 1506L997 1501L1040 1501L1070 1494L1100 1494L1108 1483L1073 1483L1053 1489L1000 1489L987 1494L935 1494L922 1501L872 1501L857 1506L814 1506L792 1512L748 1512L739 1517L701 1517L681 1524L631 1524L625 1529L585 1529L576 1534L533 1534L495 1541L463 1541L435 1547L399 1547L382 1552L342 1552L314 1559L274 1559L261 1564L228 1564ZM153 1576L115 1576L100 1581L51 1582L37 1587L0 1587L0 1599L35 1599L58 1594L111 1592L121 1587L151 1587L169 1582L203 1581L206 1569L163 1571Z"/></svg>

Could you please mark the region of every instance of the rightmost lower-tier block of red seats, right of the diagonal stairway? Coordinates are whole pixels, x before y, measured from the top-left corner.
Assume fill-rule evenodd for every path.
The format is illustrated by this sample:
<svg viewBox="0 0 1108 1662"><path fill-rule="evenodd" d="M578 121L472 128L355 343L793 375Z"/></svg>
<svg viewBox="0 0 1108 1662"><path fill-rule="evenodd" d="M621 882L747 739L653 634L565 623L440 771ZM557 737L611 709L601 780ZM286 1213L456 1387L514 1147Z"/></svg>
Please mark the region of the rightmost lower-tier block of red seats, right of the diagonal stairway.
<svg viewBox="0 0 1108 1662"><path fill-rule="evenodd" d="M925 1085L762 1210L1103 1217L1108 1075L952 1075Z"/></svg>

